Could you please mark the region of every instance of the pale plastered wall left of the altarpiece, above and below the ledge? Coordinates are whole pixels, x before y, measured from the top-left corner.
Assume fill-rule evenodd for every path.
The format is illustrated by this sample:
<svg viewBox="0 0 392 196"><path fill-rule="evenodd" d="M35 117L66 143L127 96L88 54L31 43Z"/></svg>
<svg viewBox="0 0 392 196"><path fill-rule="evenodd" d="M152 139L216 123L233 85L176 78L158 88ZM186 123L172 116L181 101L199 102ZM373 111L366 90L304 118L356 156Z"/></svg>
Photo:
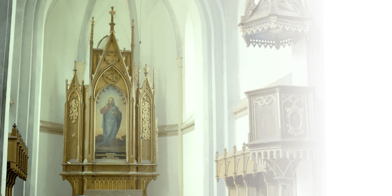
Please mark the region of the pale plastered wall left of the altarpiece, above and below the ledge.
<svg viewBox="0 0 392 196"><path fill-rule="evenodd" d="M41 121L64 124L65 80L70 83L72 79L86 5L87 1L58 0L49 13L44 37L41 102L45 104L41 104ZM82 79L78 78L80 82ZM70 183L60 176L63 143L62 135L40 133L37 182L40 196L72 194Z"/></svg>

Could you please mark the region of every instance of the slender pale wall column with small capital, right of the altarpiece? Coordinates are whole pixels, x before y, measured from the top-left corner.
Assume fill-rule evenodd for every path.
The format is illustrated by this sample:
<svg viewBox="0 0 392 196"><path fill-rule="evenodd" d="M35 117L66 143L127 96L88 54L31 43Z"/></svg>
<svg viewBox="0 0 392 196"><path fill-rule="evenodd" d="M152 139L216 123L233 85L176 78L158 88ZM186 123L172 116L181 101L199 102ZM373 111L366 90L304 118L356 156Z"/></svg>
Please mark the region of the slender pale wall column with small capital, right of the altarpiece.
<svg viewBox="0 0 392 196"><path fill-rule="evenodd" d="M183 158L182 158L182 56L176 58L178 70L178 195L183 195Z"/></svg>

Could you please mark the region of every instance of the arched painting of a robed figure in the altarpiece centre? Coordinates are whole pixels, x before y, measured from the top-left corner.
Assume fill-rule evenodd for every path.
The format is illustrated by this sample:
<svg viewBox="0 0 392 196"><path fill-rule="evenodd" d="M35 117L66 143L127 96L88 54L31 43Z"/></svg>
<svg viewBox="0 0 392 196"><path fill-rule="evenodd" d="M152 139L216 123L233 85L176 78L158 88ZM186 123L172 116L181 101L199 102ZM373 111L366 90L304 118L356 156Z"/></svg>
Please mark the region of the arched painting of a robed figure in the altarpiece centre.
<svg viewBox="0 0 392 196"><path fill-rule="evenodd" d="M112 85L96 101L95 159L126 159L126 100Z"/></svg>

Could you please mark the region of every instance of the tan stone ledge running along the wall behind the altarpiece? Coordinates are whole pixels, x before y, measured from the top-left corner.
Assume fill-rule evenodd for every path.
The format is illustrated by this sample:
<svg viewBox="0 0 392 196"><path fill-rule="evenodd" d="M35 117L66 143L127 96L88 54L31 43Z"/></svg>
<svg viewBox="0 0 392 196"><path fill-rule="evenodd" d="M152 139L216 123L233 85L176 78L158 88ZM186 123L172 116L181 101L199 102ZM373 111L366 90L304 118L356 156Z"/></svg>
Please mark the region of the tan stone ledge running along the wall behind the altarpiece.
<svg viewBox="0 0 392 196"><path fill-rule="evenodd" d="M170 137L178 135L178 124L158 126L158 137ZM182 126L182 134L195 130L195 120ZM63 135L64 125L59 123L51 123L40 121L40 132Z"/></svg>

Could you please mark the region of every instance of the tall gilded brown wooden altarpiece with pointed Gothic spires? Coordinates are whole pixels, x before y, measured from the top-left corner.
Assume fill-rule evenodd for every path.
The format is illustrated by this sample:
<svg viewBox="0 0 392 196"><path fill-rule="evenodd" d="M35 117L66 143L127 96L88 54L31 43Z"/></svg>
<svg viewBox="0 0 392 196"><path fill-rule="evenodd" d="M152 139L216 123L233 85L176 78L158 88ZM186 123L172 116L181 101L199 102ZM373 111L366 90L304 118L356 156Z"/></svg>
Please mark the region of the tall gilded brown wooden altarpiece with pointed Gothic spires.
<svg viewBox="0 0 392 196"><path fill-rule="evenodd" d="M73 196L83 195L86 189L139 189L147 196L148 183L159 175L155 82L149 82L146 65L140 88L133 20L131 50L121 50L115 37L113 8L109 11L110 35L103 49L93 49L94 17L91 21L90 84L83 80L79 84L76 69L71 83L66 80L60 175L71 183Z"/></svg>

